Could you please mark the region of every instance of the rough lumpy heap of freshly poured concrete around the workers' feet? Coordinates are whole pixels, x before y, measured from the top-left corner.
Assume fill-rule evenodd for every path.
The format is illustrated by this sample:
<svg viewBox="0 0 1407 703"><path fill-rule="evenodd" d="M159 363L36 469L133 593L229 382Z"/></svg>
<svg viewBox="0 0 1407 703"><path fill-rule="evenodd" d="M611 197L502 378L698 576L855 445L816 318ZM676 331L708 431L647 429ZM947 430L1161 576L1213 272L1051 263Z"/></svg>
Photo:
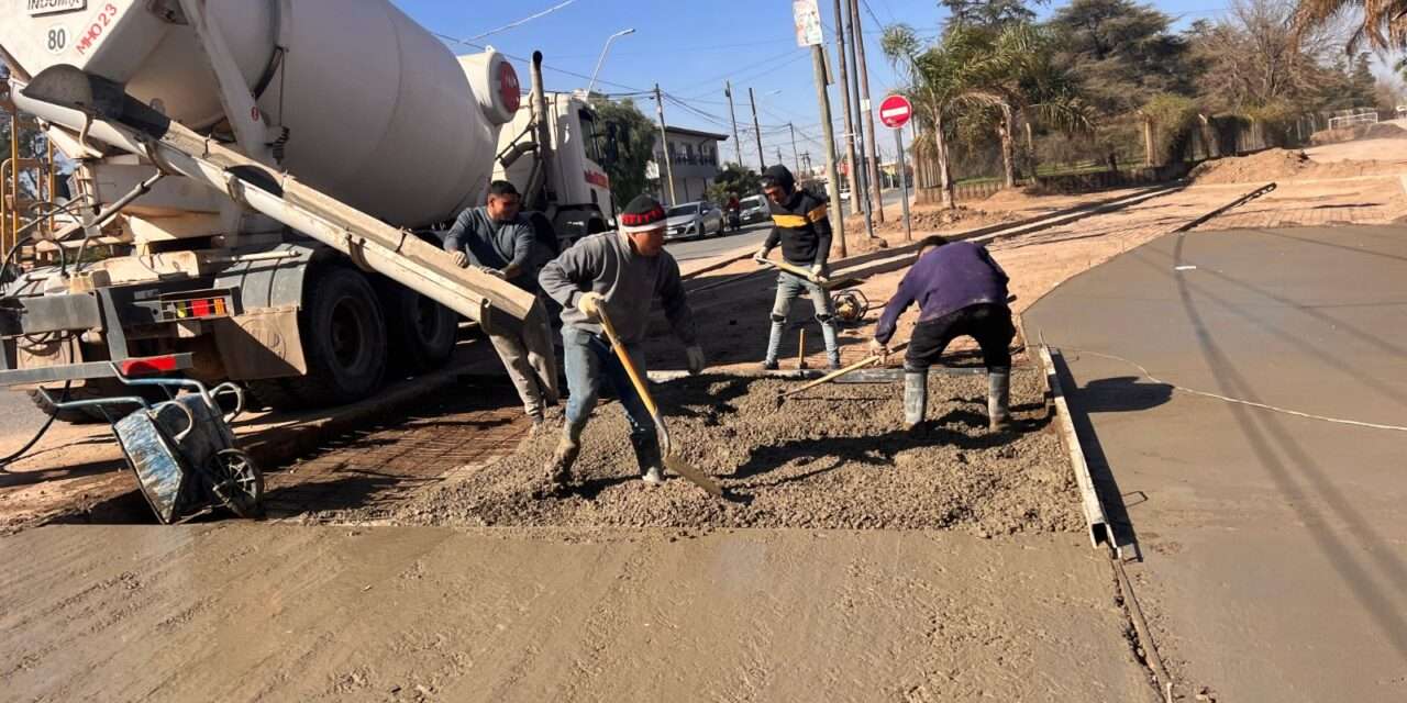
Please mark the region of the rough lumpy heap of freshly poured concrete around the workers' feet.
<svg viewBox="0 0 1407 703"><path fill-rule="evenodd" d="M789 381L705 375L657 385L682 456L739 501L671 477L637 481L615 404L597 409L573 492L539 498L547 432L461 482L405 506L398 523L471 526L968 529L978 534L1082 529L1074 479L1045 427L1034 371L1013 377L1020 432L986 432L985 375L930 378L930 426L900 432L898 384L830 384L778 408ZM794 384L794 382L791 382Z"/></svg>

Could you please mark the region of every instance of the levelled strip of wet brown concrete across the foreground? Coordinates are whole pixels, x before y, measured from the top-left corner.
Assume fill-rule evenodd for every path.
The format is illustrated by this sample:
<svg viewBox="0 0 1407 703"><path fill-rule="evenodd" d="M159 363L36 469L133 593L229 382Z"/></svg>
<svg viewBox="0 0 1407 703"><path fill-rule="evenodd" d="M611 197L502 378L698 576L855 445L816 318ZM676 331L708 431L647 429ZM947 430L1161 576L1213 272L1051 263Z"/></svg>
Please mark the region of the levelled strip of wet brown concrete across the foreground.
<svg viewBox="0 0 1407 703"><path fill-rule="evenodd" d="M0 561L6 700L1157 700L1074 534L51 526Z"/></svg>

